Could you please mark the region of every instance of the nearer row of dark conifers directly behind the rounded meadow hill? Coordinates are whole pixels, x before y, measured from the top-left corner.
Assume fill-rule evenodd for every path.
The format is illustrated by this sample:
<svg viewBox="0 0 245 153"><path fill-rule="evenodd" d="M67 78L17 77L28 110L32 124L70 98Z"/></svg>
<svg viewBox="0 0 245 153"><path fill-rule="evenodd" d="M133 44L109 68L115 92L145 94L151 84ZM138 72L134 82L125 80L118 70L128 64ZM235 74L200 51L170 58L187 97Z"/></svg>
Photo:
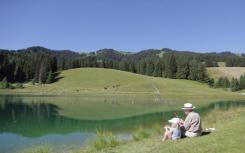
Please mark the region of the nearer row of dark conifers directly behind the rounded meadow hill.
<svg viewBox="0 0 245 153"><path fill-rule="evenodd" d="M206 67L197 60L178 60L173 54L164 58L134 60L99 60L95 54L81 54L76 59L57 59L47 52L1 52L0 79L8 82L52 83L58 70L98 67L143 75L206 81Z"/></svg>

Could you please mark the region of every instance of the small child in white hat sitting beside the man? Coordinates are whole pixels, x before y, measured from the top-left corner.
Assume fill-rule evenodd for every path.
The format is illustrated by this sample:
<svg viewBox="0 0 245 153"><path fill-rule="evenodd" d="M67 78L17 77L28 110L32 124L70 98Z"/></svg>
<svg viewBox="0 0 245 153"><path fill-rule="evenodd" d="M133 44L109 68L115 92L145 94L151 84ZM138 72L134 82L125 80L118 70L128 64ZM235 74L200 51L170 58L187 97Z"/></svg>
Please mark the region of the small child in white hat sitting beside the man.
<svg viewBox="0 0 245 153"><path fill-rule="evenodd" d="M166 125L165 128L165 133L163 136L162 141L166 140L177 140L181 137L181 131L179 128L179 118L172 118L171 120L168 120L169 123L172 123L171 127Z"/></svg>

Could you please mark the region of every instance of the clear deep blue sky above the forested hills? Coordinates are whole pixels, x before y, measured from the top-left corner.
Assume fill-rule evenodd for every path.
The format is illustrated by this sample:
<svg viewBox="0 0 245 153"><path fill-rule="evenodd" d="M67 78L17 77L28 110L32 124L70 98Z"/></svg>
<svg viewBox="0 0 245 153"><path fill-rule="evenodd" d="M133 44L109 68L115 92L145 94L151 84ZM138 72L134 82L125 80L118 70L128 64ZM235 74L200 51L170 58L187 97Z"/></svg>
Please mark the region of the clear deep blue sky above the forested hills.
<svg viewBox="0 0 245 153"><path fill-rule="evenodd" d="M245 52L245 0L0 0L0 48Z"/></svg>

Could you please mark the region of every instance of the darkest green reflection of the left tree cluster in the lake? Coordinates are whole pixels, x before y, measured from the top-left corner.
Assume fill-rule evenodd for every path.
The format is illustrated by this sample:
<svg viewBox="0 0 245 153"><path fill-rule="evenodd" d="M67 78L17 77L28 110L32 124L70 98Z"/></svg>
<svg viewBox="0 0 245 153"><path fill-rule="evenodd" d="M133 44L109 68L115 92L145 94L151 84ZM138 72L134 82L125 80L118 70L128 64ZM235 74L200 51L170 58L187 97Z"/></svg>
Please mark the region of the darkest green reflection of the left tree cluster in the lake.
<svg viewBox="0 0 245 153"><path fill-rule="evenodd" d="M46 103L23 103L22 98L1 97L0 131L39 135L52 128L59 108ZM45 123L45 124L44 124Z"/></svg>

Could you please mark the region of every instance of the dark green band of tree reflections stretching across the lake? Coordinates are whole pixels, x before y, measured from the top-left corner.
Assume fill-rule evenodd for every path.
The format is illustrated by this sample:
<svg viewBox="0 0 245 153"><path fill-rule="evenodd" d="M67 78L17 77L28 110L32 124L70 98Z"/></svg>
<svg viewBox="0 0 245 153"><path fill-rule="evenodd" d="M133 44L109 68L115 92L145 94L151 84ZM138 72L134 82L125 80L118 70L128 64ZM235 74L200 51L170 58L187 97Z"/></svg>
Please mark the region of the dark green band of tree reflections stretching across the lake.
<svg viewBox="0 0 245 153"><path fill-rule="evenodd" d="M244 101L216 102L197 111L205 115L213 109L229 109L245 106ZM58 114L59 107L48 103L24 103L21 97L0 97L0 132L13 132L36 137L53 133L71 133L76 131L132 130L138 126L151 126L172 118L173 112L179 115L182 110L151 113L113 120L77 120ZM183 116L182 116L183 117Z"/></svg>

